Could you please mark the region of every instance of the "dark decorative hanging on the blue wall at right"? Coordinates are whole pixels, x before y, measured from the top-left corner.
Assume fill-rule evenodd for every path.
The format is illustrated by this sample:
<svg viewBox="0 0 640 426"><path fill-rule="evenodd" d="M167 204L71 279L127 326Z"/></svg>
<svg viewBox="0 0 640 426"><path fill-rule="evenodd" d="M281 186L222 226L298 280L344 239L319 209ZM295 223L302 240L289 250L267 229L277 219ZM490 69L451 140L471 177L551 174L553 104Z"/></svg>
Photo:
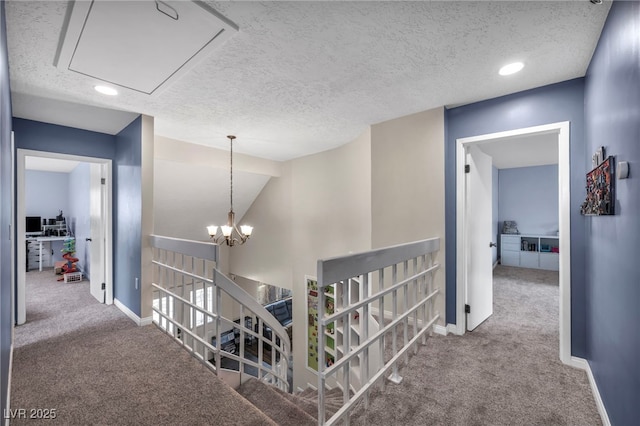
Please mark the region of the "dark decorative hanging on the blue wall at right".
<svg viewBox="0 0 640 426"><path fill-rule="evenodd" d="M587 173L587 199L582 203L583 215L615 214L615 159L607 157Z"/></svg>

